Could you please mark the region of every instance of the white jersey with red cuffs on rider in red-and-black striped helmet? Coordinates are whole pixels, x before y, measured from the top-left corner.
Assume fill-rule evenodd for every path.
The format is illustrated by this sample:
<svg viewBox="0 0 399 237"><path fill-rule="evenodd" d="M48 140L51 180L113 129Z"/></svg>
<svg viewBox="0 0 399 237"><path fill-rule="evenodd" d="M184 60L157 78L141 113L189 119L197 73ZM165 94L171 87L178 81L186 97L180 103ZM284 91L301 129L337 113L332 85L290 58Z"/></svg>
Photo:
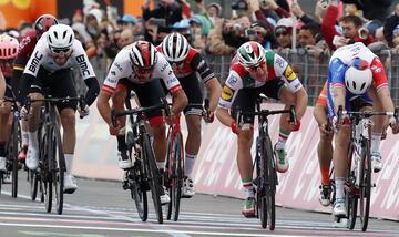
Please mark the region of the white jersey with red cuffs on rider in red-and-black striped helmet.
<svg viewBox="0 0 399 237"><path fill-rule="evenodd" d="M112 63L109 74L104 81L102 87L103 91L110 92L111 94L116 89L117 82L121 79L127 79L129 81L137 84L143 84L146 82L140 81L137 75L133 71L133 64L130 60L129 53L132 49L132 44L123 48L116 55L114 62ZM162 53L156 53L157 61L154 65L154 71L152 72L151 80L163 80L166 89L174 93L177 90L181 90L181 84L173 73L171 64L166 61Z"/></svg>

